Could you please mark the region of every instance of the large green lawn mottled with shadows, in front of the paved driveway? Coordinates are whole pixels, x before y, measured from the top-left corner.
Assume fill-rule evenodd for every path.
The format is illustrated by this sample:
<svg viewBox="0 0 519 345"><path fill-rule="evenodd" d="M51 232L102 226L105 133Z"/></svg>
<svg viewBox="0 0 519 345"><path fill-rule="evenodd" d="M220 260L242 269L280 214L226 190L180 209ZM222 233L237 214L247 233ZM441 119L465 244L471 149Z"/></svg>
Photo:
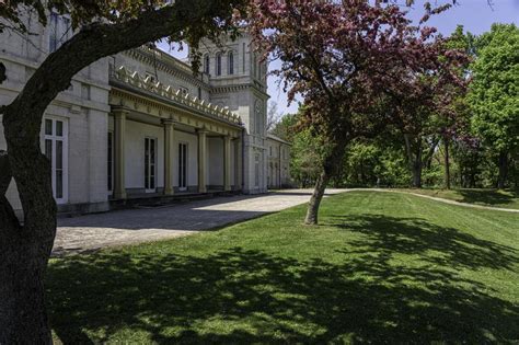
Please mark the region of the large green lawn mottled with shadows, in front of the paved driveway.
<svg viewBox="0 0 519 345"><path fill-rule="evenodd" d="M56 340L517 344L519 215L377 192L304 210L53 260Z"/></svg>

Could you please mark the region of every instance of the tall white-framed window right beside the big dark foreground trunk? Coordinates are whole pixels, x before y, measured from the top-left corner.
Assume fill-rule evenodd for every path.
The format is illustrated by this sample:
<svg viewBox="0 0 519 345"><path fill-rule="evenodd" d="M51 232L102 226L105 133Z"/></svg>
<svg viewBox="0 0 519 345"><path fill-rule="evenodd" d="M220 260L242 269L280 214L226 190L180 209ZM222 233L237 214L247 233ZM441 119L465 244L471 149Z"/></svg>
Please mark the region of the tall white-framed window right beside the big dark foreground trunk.
<svg viewBox="0 0 519 345"><path fill-rule="evenodd" d="M45 156L50 161L53 194L58 204L68 196L68 133L61 119L45 119Z"/></svg>

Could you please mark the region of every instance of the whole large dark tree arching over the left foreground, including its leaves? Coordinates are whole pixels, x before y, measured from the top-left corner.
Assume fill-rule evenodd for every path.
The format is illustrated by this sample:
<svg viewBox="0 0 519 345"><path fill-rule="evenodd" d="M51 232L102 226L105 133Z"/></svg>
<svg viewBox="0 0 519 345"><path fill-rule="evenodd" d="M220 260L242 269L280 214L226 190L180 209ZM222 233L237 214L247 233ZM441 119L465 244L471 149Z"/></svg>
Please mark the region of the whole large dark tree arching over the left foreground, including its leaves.
<svg viewBox="0 0 519 345"><path fill-rule="evenodd" d="M237 11L245 0L10 0L0 2L0 31L27 32L49 11L71 16L74 35L48 55L21 92L0 106L8 152L0 154L0 344L50 344L44 275L56 235L50 165L39 147L45 110L72 77L92 62L168 37L196 54L201 38L238 33ZM5 66L0 66L0 81ZM19 222L4 194L14 180L23 208Z"/></svg>

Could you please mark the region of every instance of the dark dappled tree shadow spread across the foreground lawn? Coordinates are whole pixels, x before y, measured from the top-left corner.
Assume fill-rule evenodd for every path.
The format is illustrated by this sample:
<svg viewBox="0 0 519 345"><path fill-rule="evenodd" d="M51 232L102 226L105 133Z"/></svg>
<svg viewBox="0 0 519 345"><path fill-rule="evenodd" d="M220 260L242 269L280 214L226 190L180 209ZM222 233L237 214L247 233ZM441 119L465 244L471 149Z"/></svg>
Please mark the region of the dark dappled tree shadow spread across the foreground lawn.
<svg viewBox="0 0 519 345"><path fill-rule="evenodd" d="M64 344L113 341L125 330L160 344L519 340L518 306L457 273L514 269L511 249L417 219L327 220L360 234L323 253L339 255L335 262L238 246L57 261L47 277L53 327ZM422 263L392 263L395 254L419 254Z"/></svg>

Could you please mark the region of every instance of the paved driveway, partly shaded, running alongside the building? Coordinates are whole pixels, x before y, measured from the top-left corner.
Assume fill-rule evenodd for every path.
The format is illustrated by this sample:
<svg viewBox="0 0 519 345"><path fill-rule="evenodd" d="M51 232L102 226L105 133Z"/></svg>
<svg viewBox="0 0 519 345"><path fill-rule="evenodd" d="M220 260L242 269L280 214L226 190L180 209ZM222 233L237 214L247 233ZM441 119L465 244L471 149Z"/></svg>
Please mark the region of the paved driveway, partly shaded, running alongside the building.
<svg viewBox="0 0 519 345"><path fill-rule="evenodd" d="M345 189L326 189L326 195L342 192ZM89 252L210 230L304 204L311 193L311 189L287 189L263 195L222 196L58 219L53 254Z"/></svg>

